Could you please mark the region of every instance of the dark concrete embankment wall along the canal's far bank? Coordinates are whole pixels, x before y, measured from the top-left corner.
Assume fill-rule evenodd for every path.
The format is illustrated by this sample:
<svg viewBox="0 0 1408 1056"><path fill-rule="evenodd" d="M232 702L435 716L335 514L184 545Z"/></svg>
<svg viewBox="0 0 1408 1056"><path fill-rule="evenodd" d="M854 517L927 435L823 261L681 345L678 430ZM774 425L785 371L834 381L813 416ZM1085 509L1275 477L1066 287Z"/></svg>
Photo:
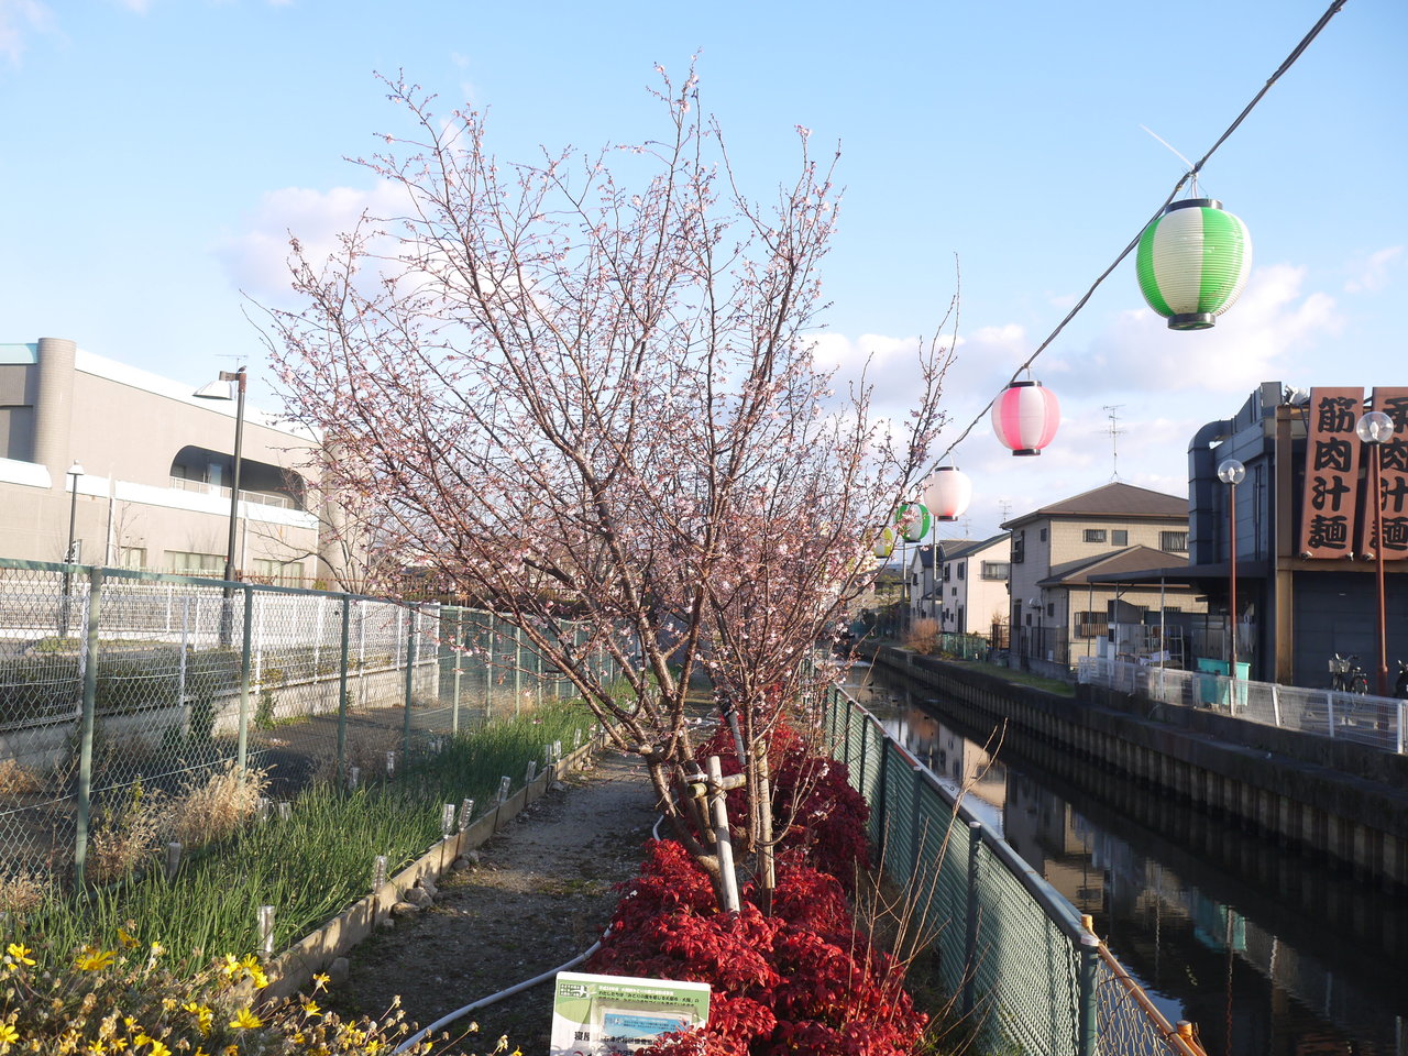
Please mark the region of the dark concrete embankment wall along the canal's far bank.
<svg viewBox="0 0 1408 1056"><path fill-rule="evenodd" d="M1408 886L1408 756L1095 686L1062 697L888 646L874 660L974 728L1005 721L1005 742L1063 760L1063 777L1115 770L1364 880Z"/></svg>

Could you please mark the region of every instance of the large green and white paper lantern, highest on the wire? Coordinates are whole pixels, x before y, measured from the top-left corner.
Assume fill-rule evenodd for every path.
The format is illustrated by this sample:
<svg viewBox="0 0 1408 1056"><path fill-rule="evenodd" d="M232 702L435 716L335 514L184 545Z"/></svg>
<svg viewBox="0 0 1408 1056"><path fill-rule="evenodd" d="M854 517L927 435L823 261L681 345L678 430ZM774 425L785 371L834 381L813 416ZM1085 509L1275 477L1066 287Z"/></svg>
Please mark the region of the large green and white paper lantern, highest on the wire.
<svg viewBox="0 0 1408 1056"><path fill-rule="evenodd" d="M1139 237L1135 269L1169 329L1207 329L1242 296L1252 237L1215 199L1176 201Z"/></svg>

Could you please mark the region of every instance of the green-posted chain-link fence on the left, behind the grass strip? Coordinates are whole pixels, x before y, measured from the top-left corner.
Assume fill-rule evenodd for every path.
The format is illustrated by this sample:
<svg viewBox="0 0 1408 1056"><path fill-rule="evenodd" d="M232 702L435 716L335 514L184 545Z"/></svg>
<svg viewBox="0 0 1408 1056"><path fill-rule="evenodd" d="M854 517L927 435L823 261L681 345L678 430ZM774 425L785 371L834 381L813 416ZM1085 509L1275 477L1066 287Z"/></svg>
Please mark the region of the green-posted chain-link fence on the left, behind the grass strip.
<svg viewBox="0 0 1408 1056"><path fill-rule="evenodd" d="M228 766L284 800L394 774L570 694L491 612L0 559L0 884L80 879L134 797Z"/></svg>

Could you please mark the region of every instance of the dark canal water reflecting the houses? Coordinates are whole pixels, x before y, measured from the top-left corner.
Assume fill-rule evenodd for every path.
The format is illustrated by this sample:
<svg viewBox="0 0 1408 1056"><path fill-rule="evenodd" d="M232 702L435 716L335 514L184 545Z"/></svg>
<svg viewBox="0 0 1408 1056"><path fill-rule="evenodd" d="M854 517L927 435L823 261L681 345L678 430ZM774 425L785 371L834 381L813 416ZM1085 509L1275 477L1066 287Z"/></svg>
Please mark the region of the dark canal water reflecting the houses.
<svg viewBox="0 0 1408 1056"><path fill-rule="evenodd" d="M1105 772L1022 758L934 690L849 691L1080 912L1208 1056L1408 1056L1408 898ZM964 714L957 710L957 714ZM1036 753L1039 755L1039 753ZM1059 777L1057 773L1064 774Z"/></svg>

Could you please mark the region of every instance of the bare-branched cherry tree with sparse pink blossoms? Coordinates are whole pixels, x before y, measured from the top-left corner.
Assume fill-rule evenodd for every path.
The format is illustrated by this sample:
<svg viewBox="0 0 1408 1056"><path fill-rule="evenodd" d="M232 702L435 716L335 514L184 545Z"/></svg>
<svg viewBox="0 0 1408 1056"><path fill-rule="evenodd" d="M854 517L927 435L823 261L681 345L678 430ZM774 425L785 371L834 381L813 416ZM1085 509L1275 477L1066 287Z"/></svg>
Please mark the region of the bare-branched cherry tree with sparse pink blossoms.
<svg viewBox="0 0 1408 1056"><path fill-rule="evenodd" d="M411 131L358 163L404 213L324 260L294 241L303 307L270 311L270 344L348 531L521 628L715 883L712 822L680 794L701 772L687 694L734 704L766 884L760 749L836 679L817 658L928 467L952 341L921 346L907 417L818 369L836 159L797 128L796 175L755 201L693 70L659 76L660 139L524 165L496 161L480 114L387 80Z"/></svg>

